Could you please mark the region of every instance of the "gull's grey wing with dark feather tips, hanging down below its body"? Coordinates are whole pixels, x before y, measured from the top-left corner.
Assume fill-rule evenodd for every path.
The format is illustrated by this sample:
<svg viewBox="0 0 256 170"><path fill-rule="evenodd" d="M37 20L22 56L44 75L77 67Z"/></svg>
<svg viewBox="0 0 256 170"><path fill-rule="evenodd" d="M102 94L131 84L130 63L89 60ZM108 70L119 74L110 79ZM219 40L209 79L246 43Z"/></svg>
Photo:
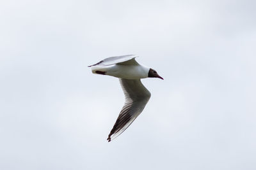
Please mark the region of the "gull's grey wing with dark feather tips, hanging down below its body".
<svg viewBox="0 0 256 170"><path fill-rule="evenodd" d="M108 135L108 141L122 134L132 124L143 111L151 96L140 80L127 80L124 78L119 78L119 80L124 90L125 104Z"/></svg>

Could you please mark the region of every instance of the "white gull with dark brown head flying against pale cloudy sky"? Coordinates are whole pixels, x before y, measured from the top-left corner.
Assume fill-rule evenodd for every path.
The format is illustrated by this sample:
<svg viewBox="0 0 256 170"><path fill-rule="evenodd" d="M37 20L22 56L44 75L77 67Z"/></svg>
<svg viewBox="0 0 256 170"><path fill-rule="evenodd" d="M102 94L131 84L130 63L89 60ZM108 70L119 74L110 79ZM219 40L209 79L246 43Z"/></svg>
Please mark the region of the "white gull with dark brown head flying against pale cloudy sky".
<svg viewBox="0 0 256 170"><path fill-rule="evenodd" d="M119 78L125 95L125 104L108 135L108 142L122 134L140 115L150 99L150 92L141 83L141 78L161 78L154 69L136 62L138 55L108 57L92 66L92 73Z"/></svg>

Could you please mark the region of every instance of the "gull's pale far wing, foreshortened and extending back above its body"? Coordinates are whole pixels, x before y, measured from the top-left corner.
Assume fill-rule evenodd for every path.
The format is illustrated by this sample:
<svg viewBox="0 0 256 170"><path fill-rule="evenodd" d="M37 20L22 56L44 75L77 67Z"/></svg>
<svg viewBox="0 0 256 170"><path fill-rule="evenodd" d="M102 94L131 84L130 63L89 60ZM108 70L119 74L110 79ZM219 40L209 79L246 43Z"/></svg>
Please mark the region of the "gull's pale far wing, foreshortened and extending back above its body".
<svg viewBox="0 0 256 170"><path fill-rule="evenodd" d="M136 62L135 60L136 57L138 57L138 55L122 55L117 57L108 57L104 60L101 60L100 62L97 62L96 64L93 64L92 66L109 66L113 64L138 65L138 62Z"/></svg>

